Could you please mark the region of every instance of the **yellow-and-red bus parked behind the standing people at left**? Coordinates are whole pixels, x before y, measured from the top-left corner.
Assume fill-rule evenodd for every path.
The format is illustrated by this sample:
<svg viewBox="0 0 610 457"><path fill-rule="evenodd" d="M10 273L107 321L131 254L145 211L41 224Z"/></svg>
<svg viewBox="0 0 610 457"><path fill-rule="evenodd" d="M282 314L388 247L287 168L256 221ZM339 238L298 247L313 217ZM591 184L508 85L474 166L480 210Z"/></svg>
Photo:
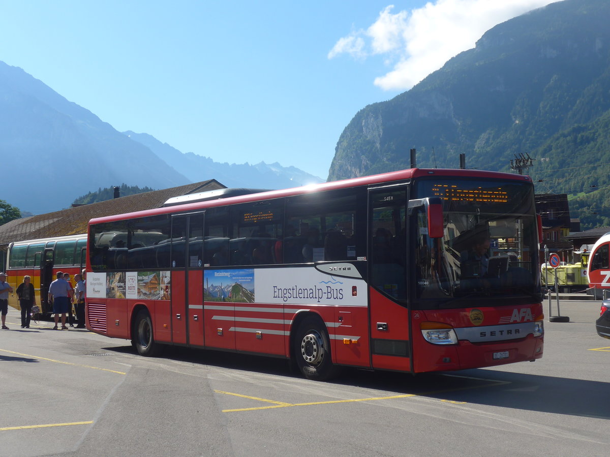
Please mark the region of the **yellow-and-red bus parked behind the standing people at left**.
<svg viewBox="0 0 610 457"><path fill-rule="evenodd" d="M49 285L58 271L69 273L70 278L80 274L85 267L87 235L57 236L54 238L30 239L9 245L7 256L7 282L16 289L29 275L34 285L35 303L43 314L50 314L48 302ZM72 281L74 286L74 281ZM19 310L16 294L9 297L9 305Z"/></svg>

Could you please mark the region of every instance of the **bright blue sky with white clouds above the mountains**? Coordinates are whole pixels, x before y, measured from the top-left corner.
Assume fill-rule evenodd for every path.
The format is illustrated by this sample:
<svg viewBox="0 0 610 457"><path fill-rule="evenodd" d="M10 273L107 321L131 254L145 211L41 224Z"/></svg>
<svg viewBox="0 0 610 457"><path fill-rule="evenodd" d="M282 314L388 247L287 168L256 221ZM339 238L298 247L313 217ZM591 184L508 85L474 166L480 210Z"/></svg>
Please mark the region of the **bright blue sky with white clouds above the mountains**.
<svg viewBox="0 0 610 457"><path fill-rule="evenodd" d="M358 110L549 3L0 0L0 60L117 130L326 179Z"/></svg>

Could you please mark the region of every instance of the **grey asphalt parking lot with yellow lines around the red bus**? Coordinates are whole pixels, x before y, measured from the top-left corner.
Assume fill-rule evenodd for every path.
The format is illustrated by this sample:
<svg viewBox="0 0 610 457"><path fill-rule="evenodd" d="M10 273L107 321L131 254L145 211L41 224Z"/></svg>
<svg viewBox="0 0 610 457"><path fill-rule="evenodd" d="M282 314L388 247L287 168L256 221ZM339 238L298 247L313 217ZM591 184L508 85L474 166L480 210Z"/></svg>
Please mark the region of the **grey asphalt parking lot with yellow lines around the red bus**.
<svg viewBox="0 0 610 457"><path fill-rule="evenodd" d="M22 330L11 310L11 330L0 331L0 453L606 455L600 302L560 305L570 322L545 322L535 363L417 377L346 369L328 383L273 358L182 348L143 358L87 330Z"/></svg>

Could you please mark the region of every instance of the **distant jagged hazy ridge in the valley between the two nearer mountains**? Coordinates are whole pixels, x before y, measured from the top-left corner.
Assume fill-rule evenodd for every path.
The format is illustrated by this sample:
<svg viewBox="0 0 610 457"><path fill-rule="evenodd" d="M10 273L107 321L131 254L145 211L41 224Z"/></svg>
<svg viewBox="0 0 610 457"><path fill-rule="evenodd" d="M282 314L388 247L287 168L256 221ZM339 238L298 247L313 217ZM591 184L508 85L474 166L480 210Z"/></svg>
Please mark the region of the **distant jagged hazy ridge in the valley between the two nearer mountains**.
<svg viewBox="0 0 610 457"><path fill-rule="evenodd" d="M123 132L131 140L148 147L158 157L170 163L174 169L184 174L193 182L201 181L202 174L212 176L227 187L250 187L266 189L285 189L324 182L320 177L306 173L293 166L284 167L279 163L267 165L265 162L256 165L218 163L209 157L182 153L167 143L161 143L147 133Z"/></svg>

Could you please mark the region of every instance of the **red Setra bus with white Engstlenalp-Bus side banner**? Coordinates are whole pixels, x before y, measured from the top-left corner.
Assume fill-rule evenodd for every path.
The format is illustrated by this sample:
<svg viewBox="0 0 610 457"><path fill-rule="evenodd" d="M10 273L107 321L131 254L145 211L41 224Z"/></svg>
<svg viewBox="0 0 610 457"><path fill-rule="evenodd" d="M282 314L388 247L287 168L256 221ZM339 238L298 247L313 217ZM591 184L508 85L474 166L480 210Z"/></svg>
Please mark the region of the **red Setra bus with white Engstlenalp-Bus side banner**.
<svg viewBox="0 0 610 457"><path fill-rule="evenodd" d="M317 380L542 357L529 177L408 169L173 200L89 223L87 328L142 355L276 356Z"/></svg>

